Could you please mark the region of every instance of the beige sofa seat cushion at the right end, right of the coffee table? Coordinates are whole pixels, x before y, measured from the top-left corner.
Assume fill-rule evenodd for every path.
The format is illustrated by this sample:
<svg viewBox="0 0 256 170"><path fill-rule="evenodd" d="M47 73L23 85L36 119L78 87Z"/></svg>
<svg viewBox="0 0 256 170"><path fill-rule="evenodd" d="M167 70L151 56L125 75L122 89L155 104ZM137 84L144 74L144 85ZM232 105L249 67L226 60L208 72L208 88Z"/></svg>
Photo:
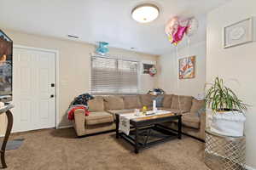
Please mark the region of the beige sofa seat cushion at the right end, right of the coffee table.
<svg viewBox="0 0 256 170"><path fill-rule="evenodd" d="M182 123L186 127L200 128L200 117L195 113L184 114L182 117Z"/></svg>

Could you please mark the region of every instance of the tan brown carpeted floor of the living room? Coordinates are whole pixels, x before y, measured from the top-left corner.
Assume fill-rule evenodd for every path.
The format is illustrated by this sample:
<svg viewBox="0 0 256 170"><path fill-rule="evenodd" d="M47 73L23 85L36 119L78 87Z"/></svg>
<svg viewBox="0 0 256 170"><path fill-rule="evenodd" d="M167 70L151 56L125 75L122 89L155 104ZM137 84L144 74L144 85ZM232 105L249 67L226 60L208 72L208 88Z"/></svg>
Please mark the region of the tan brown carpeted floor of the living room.
<svg viewBox="0 0 256 170"><path fill-rule="evenodd" d="M8 150L9 169L17 170L205 170L204 144L183 135L134 154L115 133L75 138L73 128L12 134L24 138L18 150ZM0 165L1 166L1 165Z"/></svg>

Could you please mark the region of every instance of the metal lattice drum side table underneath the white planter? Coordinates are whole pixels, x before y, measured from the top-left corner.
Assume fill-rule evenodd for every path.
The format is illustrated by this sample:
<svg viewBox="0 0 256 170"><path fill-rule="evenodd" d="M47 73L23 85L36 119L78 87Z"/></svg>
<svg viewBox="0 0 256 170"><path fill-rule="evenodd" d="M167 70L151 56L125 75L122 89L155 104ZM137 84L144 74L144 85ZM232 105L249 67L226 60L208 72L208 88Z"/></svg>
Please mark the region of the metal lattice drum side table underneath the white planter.
<svg viewBox="0 0 256 170"><path fill-rule="evenodd" d="M246 138L229 137L206 129L205 163L212 170L245 169Z"/></svg>

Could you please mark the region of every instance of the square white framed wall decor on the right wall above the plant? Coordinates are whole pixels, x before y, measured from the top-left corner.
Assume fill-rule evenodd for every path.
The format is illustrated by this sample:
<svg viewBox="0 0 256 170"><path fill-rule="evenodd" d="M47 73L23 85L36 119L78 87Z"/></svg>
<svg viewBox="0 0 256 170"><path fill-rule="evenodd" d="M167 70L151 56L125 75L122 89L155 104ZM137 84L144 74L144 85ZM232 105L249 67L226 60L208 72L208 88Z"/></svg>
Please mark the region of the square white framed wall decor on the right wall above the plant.
<svg viewBox="0 0 256 170"><path fill-rule="evenodd" d="M253 42L253 17L224 27L224 48Z"/></svg>

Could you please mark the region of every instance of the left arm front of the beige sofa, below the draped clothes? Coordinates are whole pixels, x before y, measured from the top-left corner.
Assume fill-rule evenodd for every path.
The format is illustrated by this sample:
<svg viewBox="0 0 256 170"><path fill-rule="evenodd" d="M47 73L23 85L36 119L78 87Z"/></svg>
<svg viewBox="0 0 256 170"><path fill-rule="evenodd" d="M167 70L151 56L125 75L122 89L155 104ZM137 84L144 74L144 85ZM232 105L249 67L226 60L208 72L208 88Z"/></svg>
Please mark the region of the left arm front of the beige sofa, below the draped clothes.
<svg viewBox="0 0 256 170"><path fill-rule="evenodd" d="M78 109L74 111L74 122L73 126L76 130L78 136L83 136L85 134L85 116L84 110Z"/></svg>

